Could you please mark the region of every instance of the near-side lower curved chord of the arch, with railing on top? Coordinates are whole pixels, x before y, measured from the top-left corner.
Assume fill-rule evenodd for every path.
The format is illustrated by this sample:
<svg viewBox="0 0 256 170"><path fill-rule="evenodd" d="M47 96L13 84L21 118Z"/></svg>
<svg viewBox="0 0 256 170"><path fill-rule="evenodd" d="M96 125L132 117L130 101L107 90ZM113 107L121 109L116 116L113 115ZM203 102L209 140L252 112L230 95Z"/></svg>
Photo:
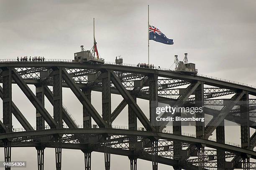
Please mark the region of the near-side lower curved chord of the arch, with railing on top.
<svg viewBox="0 0 256 170"><path fill-rule="evenodd" d="M228 145L224 143L218 143L211 140L206 140L202 138L194 138L184 135L174 135L171 133L160 133L154 131L141 131L141 130L124 130L124 129L113 129L113 128L67 128L67 129L49 129L49 130L34 130L34 131L24 131L16 133L4 133L0 134L0 140L6 138L17 138L17 137L28 137L28 136L48 136L53 134L112 134L112 135L127 135L127 136L141 136L145 138L156 137L159 140L180 140L184 143L191 144L205 144L205 147L224 149L226 151L232 152L236 155L248 154L251 158L256 158L256 152L253 150L248 150L244 148L239 148L237 146Z"/></svg>

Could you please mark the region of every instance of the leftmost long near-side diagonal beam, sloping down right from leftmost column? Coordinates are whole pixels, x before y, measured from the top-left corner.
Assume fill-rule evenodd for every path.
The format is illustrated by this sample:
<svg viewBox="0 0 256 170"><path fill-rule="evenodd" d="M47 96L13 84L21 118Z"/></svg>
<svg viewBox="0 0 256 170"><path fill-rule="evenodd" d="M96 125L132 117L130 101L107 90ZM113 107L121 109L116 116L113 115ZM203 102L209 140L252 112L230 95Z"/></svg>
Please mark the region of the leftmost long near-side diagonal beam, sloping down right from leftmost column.
<svg viewBox="0 0 256 170"><path fill-rule="evenodd" d="M44 108L41 102L37 99L36 95L31 91L31 89L26 85L22 77L18 75L15 69L12 69L13 80L17 83L20 89L24 92L24 94L28 97L28 100L36 107L38 112L44 117L45 121L51 128L56 128L56 122L51 117L49 112Z"/></svg>

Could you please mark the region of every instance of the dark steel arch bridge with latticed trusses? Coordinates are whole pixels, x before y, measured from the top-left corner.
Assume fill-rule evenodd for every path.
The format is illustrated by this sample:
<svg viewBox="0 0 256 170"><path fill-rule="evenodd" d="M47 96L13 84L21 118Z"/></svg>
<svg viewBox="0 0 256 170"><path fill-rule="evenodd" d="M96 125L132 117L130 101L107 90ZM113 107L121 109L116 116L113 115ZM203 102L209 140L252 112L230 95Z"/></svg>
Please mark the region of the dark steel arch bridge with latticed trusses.
<svg viewBox="0 0 256 170"><path fill-rule="evenodd" d="M44 169L45 148L55 148L56 170L61 170L62 149L81 150L85 170L91 169L92 152L105 154L106 170L110 170L111 154L127 156L131 170L137 169L137 159L151 161L153 170L158 169L158 163L170 165L175 170L256 169L253 162L256 159L253 150L256 133L250 134L250 128L256 129L253 120L256 100L249 98L256 96L256 87L251 85L166 69L111 63L81 64L68 60L1 60L0 75L3 84L0 87L3 100L0 147L5 150L6 162L11 161L11 148L34 147L38 170ZM12 101L13 83L36 108L36 127L31 126ZM28 85L35 85L36 91L33 92ZM64 87L70 88L81 102L83 125L77 125L63 106ZM101 114L91 103L92 91L102 93ZM111 94L123 97L115 110L111 110ZM53 117L44 107L44 96L53 105ZM180 122L173 125L173 131L167 131L166 124L152 126L150 118L138 106L137 98L148 100L150 111L156 109L151 101L203 107L202 114L211 115L212 120L207 125L197 123L195 135L182 133ZM128 127L112 125L126 105ZM12 115L23 128L13 127ZM92 119L97 125L92 125ZM137 120L143 127L137 126ZM225 141L224 120L240 125L241 144ZM216 139L210 137L214 131Z"/></svg>

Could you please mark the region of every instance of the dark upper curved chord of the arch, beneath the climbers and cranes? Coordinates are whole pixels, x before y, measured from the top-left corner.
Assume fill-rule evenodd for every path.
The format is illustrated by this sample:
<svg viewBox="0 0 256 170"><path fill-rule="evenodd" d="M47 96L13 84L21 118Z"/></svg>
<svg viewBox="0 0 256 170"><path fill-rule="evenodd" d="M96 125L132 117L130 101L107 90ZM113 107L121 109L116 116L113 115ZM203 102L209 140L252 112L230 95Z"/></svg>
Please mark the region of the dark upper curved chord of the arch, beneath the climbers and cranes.
<svg viewBox="0 0 256 170"><path fill-rule="evenodd" d="M175 78L180 80L199 80L205 82L206 85L212 85L215 87L222 87L222 88L229 88L234 90L246 90L249 91L249 94L256 95L256 89L253 87L248 87L246 85L239 85L234 82L225 82L221 80L217 80L216 78L210 77L202 77L198 75L186 75L180 74L175 71L166 71L166 70L156 70L156 69L145 69L140 67L127 67L122 65L92 65L91 63L67 63L67 62L3 62L0 63L0 67L65 67L65 68L81 68L84 69L112 69L115 71L120 72L131 72L131 73L139 73L139 74L158 74L159 77L166 77L166 78Z"/></svg>

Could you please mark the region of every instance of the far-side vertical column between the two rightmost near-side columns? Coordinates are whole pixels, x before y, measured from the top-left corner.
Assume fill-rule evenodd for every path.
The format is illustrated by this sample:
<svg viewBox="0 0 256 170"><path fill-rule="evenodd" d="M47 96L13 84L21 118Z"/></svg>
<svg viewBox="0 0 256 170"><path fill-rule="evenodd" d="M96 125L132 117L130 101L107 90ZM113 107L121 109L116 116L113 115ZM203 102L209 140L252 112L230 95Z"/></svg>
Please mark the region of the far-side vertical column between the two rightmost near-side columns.
<svg viewBox="0 0 256 170"><path fill-rule="evenodd" d="M216 128L216 140L219 143L225 143L225 126L224 120ZM217 149L217 170L225 169L225 150Z"/></svg>

